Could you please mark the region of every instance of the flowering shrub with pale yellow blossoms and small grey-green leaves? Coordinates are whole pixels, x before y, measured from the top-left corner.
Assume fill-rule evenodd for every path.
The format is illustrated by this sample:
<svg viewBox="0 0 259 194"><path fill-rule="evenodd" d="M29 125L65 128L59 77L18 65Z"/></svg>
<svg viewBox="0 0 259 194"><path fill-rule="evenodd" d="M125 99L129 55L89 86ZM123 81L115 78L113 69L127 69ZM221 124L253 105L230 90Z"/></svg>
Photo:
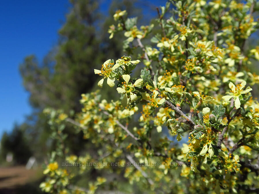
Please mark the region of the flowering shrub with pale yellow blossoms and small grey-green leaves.
<svg viewBox="0 0 259 194"><path fill-rule="evenodd" d="M110 38L124 32L123 50L136 60L109 59L94 73L102 76L99 87L107 78L119 97L103 99L104 90L83 94L75 115L45 110L59 146L44 170L43 191L68 189L72 175L60 168L57 156L71 163L102 161L74 170L96 172L96 180L86 185L89 193L120 188L121 175L130 193L258 190L259 103L250 86L259 76L249 69L251 59L259 60L259 49L245 50L246 39L259 28L252 17L258 2L171 3L158 9L156 27L139 28L126 11L114 14ZM66 149L73 132L91 149Z"/></svg>

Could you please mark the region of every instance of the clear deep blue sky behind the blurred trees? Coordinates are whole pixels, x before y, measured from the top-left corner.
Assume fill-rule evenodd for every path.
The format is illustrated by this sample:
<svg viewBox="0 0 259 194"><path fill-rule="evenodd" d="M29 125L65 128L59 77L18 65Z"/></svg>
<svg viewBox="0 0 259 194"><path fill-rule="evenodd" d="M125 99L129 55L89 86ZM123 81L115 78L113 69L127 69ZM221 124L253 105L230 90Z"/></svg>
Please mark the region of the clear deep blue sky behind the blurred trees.
<svg viewBox="0 0 259 194"><path fill-rule="evenodd" d="M147 10L165 4L165 0L146 2L142 2L142 6ZM110 3L111 0L102 0L102 14L108 12ZM11 131L14 123L22 123L32 111L29 94L22 86L19 64L30 54L35 54L41 62L57 44L58 30L70 6L68 0L0 1L0 138L4 131Z"/></svg>

